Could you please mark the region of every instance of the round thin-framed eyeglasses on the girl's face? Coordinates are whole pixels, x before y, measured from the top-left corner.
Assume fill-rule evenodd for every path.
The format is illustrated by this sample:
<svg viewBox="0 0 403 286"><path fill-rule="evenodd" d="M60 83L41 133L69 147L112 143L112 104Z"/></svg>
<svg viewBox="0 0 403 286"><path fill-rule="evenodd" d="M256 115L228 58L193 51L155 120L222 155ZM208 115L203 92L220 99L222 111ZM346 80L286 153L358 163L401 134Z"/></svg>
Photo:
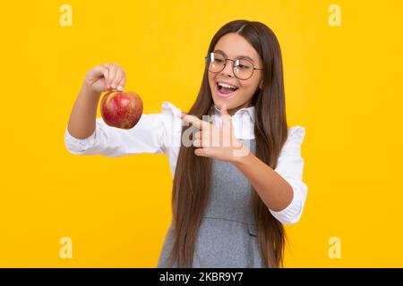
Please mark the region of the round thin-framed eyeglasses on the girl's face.
<svg viewBox="0 0 403 286"><path fill-rule="evenodd" d="M239 80L247 80L252 77L254 70L258 69L253 66L253 63L247 59L237 59L231 60L227 59L224 55L220 53L211 52L208 56L204 57L206 59L206 66L210 72L218 73L223 71L226 67L227 61L234 62L232 70L234 75Z"/></svg>

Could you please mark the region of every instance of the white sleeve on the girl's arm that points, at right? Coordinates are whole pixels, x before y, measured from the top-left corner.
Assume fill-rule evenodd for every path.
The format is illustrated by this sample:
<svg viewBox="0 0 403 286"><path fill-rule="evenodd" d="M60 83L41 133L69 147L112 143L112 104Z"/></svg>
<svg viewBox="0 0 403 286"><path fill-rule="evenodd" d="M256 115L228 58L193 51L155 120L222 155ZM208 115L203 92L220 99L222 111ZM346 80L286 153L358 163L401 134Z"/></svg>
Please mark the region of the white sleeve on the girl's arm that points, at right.
<svg viewBox="0 0 403 286"><path fill-rule="evenodd" d="M308 187L303 181L304 159L301 157L301 144L304 140L305 129L295 126L288 130L288 139L281 149L275 172L278 172L293 188L294 197L291 203L282 211L270 213L280 223L297 223L304 209Z"/></svg>

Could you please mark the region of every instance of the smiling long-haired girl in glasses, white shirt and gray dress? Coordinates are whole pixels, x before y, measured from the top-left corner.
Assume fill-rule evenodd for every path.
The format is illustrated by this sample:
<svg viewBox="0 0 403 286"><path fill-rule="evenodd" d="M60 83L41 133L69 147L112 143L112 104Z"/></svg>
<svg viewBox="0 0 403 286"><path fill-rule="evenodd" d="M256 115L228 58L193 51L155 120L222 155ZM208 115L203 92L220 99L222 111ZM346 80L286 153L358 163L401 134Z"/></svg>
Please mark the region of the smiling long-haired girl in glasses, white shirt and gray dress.
<svg viewBox="0 0 403 286"><path fill-rule="evenodd" d="M158 267L282 266L283 224L298 222L307 194L305 130L287 127L281 52L271 29L257 21L219 29L187 114L164 102L161 113L142 114L131 130L109 127L96 118L100 94L124 85L116 64L87 73L65 145L79 155L168 156L173 217Z"/></svg>

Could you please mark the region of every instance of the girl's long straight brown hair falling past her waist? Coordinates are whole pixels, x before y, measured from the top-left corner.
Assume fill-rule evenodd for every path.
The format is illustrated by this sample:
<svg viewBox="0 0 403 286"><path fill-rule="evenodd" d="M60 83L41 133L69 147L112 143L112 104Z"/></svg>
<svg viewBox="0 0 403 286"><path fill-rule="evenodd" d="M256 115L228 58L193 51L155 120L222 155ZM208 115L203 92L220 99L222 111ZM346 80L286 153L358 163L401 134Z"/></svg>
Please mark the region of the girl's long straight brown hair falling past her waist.
<svg viewBox="0 0 403 286"><path fill-rule="evenodd" d="M283 83L283 67L279 41L273 31L258 21L231 21L224 25L211 40L208 53L212 52L219 38L227 33L244 37L262 57L262 89L252 97L255 106L254 135L256 156L271 168L275 168L281 147L287 140L286 104ZM211 113L213 99L204 71L199 95L188 114L198 118ZM182 132L187 129L185 126ZM169 264L177 259L179 267L191 267L193 251L201 223L201 216L210 197L210 158L195 156L195 147L181 144L176 163L172 190L174 243ZM282 267L286 243L283 225L274 218L252 187L252 206L258 226L259 248L266 267Z"/></svg>

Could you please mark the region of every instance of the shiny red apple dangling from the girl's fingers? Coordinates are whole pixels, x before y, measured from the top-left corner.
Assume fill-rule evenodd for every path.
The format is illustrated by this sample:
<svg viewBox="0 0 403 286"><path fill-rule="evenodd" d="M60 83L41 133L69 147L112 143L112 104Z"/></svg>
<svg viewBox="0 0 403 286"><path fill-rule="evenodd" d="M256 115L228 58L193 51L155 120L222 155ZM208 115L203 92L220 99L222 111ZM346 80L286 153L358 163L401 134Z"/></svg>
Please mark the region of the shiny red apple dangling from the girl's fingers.
<svg viewBox="0 0 403 286"><path fill-rule="evenodd" d="M100 112L107 125L132 129L141 118L141 97L131 91L108 91L102 98Z"/></svg>

